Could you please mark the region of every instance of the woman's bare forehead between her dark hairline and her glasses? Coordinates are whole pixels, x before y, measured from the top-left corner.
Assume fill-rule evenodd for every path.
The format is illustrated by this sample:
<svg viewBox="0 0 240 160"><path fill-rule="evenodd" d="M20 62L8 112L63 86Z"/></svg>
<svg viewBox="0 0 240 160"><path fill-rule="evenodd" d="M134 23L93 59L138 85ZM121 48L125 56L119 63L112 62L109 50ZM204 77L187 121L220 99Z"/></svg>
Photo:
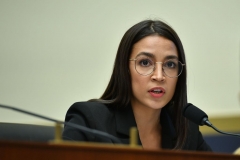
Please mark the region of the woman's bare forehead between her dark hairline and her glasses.
<svg viewBox="0 0 240 160"><path fill-rule="evenodd" d="M137 57L141 53L149 53L156 59L163 59L167 56L178 57L175 44L171 40L159 35L147 36L135 43L130 57Z"/></svg>

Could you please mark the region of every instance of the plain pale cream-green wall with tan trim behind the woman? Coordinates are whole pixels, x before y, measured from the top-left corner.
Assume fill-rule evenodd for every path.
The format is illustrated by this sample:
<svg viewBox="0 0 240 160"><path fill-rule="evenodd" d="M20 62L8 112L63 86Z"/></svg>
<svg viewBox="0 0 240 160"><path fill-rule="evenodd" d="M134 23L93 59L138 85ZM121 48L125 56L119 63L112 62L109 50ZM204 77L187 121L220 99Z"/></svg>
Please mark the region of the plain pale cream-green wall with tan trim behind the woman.
<svg viewBox="0 0 240 160"><path fill-rule="evenodd" d="M160 19L183 42L189 102L239 132L239 8L239 0L1 0L0 104L64 120L72 103L101 96L126 30ZM1 108L0 122L50 123Z"/></svg>

